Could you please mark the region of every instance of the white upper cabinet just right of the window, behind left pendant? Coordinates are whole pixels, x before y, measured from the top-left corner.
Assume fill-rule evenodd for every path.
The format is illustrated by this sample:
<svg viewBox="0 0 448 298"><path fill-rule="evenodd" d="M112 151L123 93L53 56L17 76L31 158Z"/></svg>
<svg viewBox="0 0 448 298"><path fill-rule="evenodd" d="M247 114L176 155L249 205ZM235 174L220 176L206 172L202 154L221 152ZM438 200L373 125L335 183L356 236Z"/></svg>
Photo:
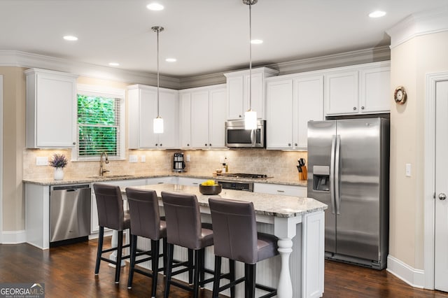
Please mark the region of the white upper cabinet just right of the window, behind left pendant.
<svg viewBox="0 0 448 298"><path fill-rule="evenodd" d="M179 92L160 88L159 110L163 133L154 134L153 119L157 117L157 87L128 87L127 118L130 149L179 148Z"/></svg>

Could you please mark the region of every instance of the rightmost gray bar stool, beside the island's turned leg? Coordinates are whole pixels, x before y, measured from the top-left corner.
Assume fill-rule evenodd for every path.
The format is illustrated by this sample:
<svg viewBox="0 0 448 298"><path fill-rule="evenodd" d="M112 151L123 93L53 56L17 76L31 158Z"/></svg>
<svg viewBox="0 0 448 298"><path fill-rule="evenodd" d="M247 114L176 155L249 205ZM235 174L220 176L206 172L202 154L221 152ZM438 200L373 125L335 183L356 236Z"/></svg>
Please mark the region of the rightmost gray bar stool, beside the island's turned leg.
<svg viewBox="0 0 448 298"><path fill-rule="evenodd" d="M255 297L255 288L267 291L263 298L276 295L276 289L255 283L256 263L278 255L277 241L274 235L258 233L255 210L252 202L230 199L209 199L211 222L214 230L215 276L213 297L218 293L235 288L245 282L245 297ZM222 276L221 257L244 263L244 277L219 286Z"/></svg>

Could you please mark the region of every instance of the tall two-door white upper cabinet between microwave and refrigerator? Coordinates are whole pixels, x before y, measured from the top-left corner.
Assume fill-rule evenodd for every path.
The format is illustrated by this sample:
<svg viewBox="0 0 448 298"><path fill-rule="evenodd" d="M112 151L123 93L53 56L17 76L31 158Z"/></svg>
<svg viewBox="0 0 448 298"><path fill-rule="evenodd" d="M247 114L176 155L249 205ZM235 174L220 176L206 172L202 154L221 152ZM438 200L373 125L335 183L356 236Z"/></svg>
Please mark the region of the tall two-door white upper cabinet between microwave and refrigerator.
<svg viewBox="0 0 448 298"><path fill-rule="evenodd" d="M266 83L266 147L306 149L308 121L323 120L323 74L285 77Z"/></svg>

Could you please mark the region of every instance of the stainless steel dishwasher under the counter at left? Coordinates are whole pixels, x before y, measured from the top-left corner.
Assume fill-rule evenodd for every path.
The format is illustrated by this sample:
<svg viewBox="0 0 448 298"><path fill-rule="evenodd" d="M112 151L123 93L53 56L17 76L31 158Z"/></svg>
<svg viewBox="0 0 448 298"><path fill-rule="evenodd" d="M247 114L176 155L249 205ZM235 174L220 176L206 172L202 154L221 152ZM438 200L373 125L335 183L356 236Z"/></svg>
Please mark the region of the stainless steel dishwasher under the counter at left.
<svg viewBox="0 0 448 298"><path fill-rule="evenodd" d="M50 187L50 243L90 234L90 185Z"/></svg>

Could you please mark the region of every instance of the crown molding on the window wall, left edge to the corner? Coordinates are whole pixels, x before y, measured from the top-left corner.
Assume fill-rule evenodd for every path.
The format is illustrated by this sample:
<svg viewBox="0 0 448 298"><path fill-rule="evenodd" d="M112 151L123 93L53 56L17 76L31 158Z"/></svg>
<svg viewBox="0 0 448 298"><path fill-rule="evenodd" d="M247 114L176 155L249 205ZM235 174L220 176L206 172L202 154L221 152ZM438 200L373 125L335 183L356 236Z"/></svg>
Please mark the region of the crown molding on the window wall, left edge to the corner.
<svg viewBox="0 0 448 298"><path fill-rule="evenodd" d="M153 73L127 71L15 50L0 50L0 66L49 69L52 71L76 73L78 76L88 78L115 80L131 84L157 85L157 75ZM177 90L180 86L180 80L178 78L160 76L160 86Z"/></svg>

